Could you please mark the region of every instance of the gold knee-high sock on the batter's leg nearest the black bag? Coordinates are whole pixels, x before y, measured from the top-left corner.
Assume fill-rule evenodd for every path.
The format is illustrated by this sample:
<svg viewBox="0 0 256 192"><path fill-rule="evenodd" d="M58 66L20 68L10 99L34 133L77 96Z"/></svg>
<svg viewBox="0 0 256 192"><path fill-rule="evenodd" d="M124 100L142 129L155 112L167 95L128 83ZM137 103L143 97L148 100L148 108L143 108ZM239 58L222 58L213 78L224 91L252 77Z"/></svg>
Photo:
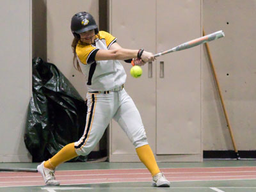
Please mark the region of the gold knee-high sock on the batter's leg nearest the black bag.
<svg viewBox="0 0 256 192"><path fill-rule="evenodd" d="M59 164L77 157L78 155L76 154L74 144L75 143L70 143L61 148L61 150L55 156L53 156L48 161L45 161L44 167L54 170Z"/></svg>

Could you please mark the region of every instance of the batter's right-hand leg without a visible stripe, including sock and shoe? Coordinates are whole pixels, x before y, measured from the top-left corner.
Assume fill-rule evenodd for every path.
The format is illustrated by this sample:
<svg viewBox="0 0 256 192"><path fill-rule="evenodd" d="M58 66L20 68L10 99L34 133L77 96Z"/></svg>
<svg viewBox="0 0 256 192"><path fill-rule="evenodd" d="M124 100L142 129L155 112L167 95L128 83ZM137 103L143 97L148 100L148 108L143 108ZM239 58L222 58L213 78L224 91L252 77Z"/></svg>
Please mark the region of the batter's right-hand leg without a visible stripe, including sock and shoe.
<svg viewBox="0 0 256 192"><path fill-rule="evenodd" d="M160 173L154 154L148 145L147 136L138 109L125 90L120 91L119 95L120 107L114 119L122 127L129 140L132 141L138 157L150 171L154 186L169 187L170 182Z"/></svg>

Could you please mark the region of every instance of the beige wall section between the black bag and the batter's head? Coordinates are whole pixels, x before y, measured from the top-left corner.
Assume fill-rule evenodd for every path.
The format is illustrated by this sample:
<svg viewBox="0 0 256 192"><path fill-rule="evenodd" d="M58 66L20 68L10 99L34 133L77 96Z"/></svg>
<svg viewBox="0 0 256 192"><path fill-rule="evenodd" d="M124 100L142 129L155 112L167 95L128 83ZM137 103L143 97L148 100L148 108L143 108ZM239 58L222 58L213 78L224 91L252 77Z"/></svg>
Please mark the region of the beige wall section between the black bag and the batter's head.
<svg viewBox="0 0 256 192"><path fill-rule="evenodd" d="M48 0L47 1L47 61L54 63L70 80L85 99L84 76L73 67L72 40L70 30L72 16L77 12L89 12L99 21L97 0Z"/></svg>

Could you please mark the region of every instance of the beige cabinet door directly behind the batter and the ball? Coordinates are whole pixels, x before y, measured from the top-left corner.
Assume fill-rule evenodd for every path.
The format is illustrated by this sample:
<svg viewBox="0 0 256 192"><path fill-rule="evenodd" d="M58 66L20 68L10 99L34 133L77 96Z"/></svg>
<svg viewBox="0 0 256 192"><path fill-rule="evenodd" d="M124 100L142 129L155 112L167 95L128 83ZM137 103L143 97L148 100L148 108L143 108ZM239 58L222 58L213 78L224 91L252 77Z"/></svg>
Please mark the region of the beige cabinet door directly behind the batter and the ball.
<svg viewBox="0 0 256 192"><path fill-rule="evenodd" d="M109 3L110 32L118 44L127 49L156 52L156 0L112 0ZM140 111L148 142L156 152L156 65L147 63L142 67L142 76L135 79L130 75L132 65L121 62L127 73L125 90ZM129 158L138 161L134 146L115 120L109 137L110 161L134 161ZM127 154L129 156L124 158Z"/></svg>

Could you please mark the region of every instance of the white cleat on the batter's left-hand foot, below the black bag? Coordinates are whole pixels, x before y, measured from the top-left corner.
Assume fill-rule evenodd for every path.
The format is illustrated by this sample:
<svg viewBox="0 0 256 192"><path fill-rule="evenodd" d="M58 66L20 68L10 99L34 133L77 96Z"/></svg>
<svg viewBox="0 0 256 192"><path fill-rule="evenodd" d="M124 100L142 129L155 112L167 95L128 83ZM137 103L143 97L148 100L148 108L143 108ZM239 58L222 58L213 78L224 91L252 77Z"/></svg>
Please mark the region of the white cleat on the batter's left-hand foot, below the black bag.
<svg viewBox="0 0 256 192"><path fill-rule="evenodd" d="M58 180L55 179L54 170L50 170L50 169L45 168L44 167L44 162L37 166L37 170L42 175L42 177L44 178L45 184L46 185L51 185L51 186L59 186L60 182L58 182Z"/></svg>

